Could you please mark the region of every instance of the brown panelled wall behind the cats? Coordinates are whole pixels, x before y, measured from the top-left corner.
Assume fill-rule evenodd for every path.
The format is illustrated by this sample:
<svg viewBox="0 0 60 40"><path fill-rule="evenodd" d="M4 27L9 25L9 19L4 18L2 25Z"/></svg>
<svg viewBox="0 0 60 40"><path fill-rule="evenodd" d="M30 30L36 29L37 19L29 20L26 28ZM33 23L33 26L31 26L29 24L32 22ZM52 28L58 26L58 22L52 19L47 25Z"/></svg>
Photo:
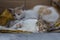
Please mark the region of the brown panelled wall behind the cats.
<svg viewBox="0 0 60 40"><path fill-rule="evenodd" d="M24 9L30 9L39 4L48 6L51 5L49 0L0 0L0 13L5 8L19 7L23 4L25 5Z"/></svg>

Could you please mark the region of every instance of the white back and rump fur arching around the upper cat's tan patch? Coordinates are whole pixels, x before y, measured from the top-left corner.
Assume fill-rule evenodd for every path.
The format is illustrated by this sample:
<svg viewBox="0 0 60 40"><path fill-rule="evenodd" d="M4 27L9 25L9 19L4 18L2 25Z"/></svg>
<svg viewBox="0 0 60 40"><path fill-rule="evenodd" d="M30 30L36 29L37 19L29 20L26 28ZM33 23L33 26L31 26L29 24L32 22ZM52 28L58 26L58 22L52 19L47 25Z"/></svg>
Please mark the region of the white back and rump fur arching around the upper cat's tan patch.
<svg viewBox="0 0 60 40"><path fill-rule="evenodd" d="M33 10L38 13L38 11L41 7L47 7L48 9L50 9L52 11L52 13L49 14L49 15L43 15L42 16L43 20L45 20L47 22L52 22L52 23L57 21L57 19L59 18L59 14L54 7L48 7L48 6L45 6L45 5L36 5L33 8Z"/></svg>

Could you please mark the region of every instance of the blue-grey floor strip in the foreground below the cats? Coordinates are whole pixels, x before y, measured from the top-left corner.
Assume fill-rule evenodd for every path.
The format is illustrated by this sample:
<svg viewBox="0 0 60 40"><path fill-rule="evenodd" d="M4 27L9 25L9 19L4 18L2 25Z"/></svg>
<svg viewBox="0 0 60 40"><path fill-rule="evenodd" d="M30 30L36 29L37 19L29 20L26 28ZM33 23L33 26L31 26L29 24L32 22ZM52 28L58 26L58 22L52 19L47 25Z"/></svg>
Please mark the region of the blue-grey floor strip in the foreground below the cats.
<svg viewBox="0 0 60 40"><path fill-rule="evenodd" d="M0 34L0 40L60 40L60 33Z"/></svg>

